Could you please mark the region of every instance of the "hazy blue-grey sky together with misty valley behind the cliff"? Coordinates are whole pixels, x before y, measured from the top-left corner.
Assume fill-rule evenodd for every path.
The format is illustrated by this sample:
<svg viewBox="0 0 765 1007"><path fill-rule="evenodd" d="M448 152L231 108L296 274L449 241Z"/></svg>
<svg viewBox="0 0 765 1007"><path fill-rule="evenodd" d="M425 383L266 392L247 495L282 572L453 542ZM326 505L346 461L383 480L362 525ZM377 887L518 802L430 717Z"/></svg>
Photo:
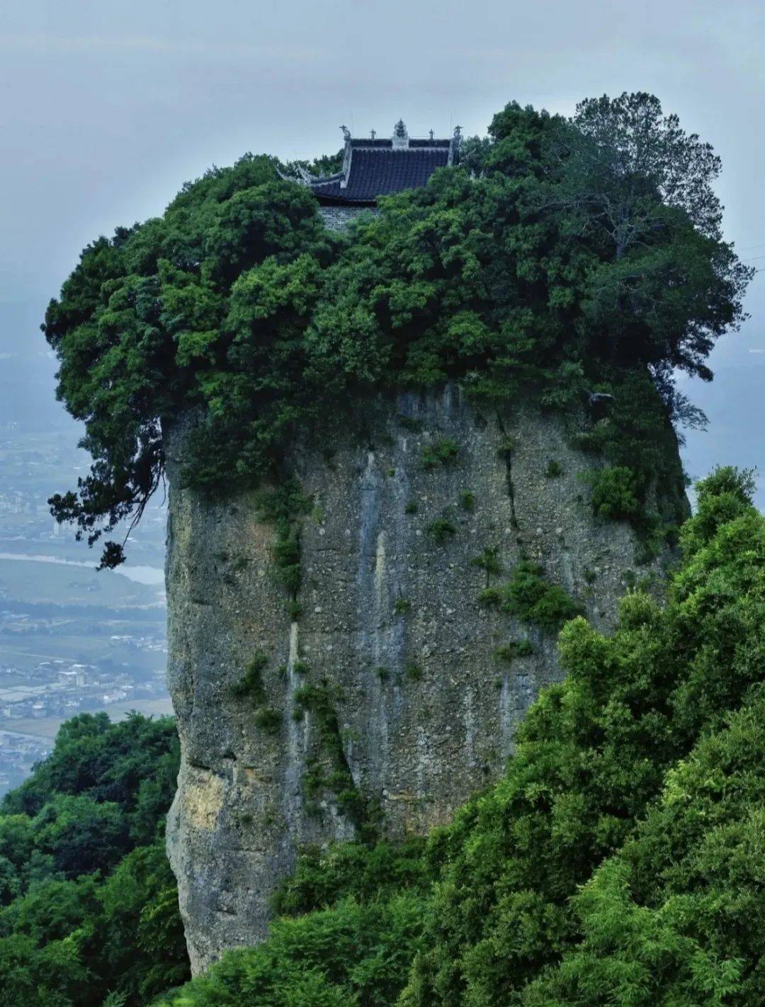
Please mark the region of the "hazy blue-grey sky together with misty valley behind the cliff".
<svg viewBox="0 0 765 1007"><path fill-rule="evenodd" d="M46 497L87 459L39 323L86 244L161 213L184 180L247 151L332 153L341 124L387 136L403 117L412 135L483 134L511 100L570 114L585 97L648 91L722 156L726 236L765 267L764 42L761 0L4 0L0 789L71 715L65 683L84 683L75 709L166 702L161 512L136 533L133 570L98 575L47 517ZM763 274L747 308L713 353L716 381L683 383L710 419L686 434L693 477L716 463L765 469ZM762 473L758 485L765 508Z"/></svg>

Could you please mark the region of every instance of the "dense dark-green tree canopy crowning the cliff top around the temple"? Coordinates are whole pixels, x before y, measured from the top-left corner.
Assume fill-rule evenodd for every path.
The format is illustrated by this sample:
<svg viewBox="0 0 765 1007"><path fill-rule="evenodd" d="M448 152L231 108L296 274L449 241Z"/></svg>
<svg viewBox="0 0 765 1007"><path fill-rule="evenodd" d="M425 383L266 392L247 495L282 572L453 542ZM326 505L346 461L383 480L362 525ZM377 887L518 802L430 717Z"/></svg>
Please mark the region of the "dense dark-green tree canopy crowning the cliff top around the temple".
<svg viewBox="0 0 765 1007"><path fill-rule="evenodd" d="M140 517L184 411L185 477L221 492L272 472L296 431L361 413L370 387L455 378L484 403L567 408L650 373L671 413L672 370L709 378L742 317L719 160L647 95L571 120L510 104L461 166L342 237L277 168L248 155L185 185L162 218L89 246L50 303L58 394L94 458L51 506L92 542Z"/></svg>

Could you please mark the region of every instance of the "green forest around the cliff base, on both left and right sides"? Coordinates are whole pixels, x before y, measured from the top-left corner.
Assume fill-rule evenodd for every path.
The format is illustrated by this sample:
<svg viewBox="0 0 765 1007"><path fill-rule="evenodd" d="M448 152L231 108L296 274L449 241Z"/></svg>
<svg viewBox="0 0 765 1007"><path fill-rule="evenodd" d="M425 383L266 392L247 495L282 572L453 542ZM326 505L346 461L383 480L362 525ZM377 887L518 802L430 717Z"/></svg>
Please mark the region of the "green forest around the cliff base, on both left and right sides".
<svg viewBox="0 0 765 1007"><path fill-rule="evenodd" d="M162 841L174 726L67 722L0 813L0 1003L761 1004L765 518L751 490L733 469L701 483L665 604L638 587L612 635L565 625L566 681L453 824L304 851L268 940L185 985Z"/></svg>

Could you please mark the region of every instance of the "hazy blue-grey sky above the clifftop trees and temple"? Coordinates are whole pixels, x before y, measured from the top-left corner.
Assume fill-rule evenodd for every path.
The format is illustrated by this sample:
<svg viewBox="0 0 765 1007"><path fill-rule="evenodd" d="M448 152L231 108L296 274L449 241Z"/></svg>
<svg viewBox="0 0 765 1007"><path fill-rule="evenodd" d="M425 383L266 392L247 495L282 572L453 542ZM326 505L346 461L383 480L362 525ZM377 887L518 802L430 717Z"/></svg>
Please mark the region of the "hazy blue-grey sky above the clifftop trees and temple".
<svg viewBox="0 0 765 1007"><path fill-rule="evenodd" d="M0 306L37 320L88 241L247 150L331 152L341 123L400 116L483 132L511 99L624 90L715 145L728 235L765 266L764 44L763 0L2 0ZM765 274L749 309L725 358L765 346Z"/></svg>

